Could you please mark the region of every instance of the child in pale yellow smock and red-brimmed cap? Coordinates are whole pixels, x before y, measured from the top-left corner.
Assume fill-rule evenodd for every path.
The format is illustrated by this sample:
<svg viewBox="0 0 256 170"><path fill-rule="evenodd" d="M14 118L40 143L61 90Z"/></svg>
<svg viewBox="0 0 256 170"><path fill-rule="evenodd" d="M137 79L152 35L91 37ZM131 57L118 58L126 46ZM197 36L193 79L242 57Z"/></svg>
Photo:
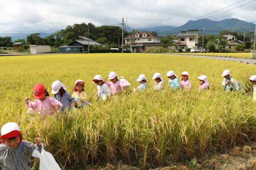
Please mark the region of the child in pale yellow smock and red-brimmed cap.
<svg viewBox="0 0 256 170"><path fill-rule="evenodd" d="M75 102L76 108L84 108L87 105L91 105L89 102L86 102L87 95L86 95L86 92L84 91L83 80L76 80L72 98L74 98L74 100L76 101Z"/></svg>

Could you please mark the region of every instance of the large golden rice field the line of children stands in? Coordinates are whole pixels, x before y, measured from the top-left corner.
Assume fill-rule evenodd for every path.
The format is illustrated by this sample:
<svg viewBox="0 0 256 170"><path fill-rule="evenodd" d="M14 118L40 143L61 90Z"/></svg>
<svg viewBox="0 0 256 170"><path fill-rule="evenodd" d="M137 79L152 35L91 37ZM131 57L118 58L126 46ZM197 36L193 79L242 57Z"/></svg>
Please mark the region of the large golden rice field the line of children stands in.
<svg viewBox="0 0 256 170"><path fill-rule="evenodd" d="M223 92L225 69L242 82L242 92ZM170 90L165 77L168 70L179 76L188 71L192 90ZM42 137L46 150L65 169L120 160L144 168L186 162L255 139L255 103L248 81L255 70L252 64L168 55L0 57L0 126L14 121L24 139ZM106 103L97 102L97 88L91 80L96 74L107 79L110 71L124 76L131 88ZM163 91L153 90L155 72L165 80ZM148 89L133 93L140 74L146 74ZM202 74L208 76L210 90L199 94L197 76ZM26 114L24 98L33 99L34 84L40 82L50 92L52 82L60 80L72 93L77 79L84 80L92 107L45 120Z"/></svg>

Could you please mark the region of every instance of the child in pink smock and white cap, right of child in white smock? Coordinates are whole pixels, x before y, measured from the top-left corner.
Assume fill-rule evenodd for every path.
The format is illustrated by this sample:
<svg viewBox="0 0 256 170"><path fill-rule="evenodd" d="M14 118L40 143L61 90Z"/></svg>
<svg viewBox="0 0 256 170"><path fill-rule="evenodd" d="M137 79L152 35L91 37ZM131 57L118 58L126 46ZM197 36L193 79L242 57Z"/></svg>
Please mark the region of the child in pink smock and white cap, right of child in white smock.
<svg viewBox="0 0 256 170"><path fill-rule="evenodd" d="M107 82L106 84L111 89L112 94L113 95L121 94L122 93L122 87L120 85L120 81L118 79L118 76L114 71L109 73L108 80L110 80L110 82Z"/></svg>

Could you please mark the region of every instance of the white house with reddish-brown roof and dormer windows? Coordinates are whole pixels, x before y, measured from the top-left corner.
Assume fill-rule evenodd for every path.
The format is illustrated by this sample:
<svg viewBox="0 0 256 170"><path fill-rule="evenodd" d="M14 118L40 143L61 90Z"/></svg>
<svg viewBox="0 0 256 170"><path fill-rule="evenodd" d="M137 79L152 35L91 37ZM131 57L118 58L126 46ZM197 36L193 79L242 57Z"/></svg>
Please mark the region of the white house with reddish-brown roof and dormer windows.
<svg viewBox="0 0 256 170"><path fill-rule="evenodd" d="M160 49L162 43L157 35L150 32L138 32L128 35L124 38L124 48L131 53L140 53L149 49Z"/></svg>

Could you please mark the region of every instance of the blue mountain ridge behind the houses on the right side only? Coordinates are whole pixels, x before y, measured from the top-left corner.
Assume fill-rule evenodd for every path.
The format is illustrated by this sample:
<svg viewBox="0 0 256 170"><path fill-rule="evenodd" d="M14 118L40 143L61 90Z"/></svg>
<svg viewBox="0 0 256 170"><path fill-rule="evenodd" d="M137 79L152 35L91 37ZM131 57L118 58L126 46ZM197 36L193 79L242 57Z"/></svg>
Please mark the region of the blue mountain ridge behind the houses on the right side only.
<svg viewBox="0 0 256 170"><path fill-rule="evenodd" d="M246 32L254 31L255 24L238 20L236 18L221 20L221 21L214 21L208 19L202 20L190 20L184 25L180 27L172 27L172 26L157 26L157 27L144 27L139 28L138 30L145 30L145 31L156 31L158 35L164 36L168 34L178 34L180 31L186 31L188 29L203 29L205 27L206 34L214 34L218 35L218 33L222 30L230 30L230 31L237 31L239 33L243 33L244 30Z"/></svg>

